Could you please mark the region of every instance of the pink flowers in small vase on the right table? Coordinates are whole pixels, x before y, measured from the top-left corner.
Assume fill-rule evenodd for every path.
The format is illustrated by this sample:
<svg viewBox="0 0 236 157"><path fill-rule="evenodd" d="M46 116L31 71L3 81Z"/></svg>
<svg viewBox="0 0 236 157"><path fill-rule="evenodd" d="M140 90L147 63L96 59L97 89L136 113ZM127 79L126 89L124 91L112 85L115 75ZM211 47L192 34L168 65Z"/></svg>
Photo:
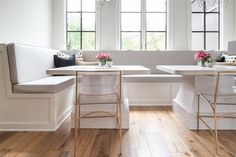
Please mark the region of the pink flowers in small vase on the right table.
<svg viewBox="0 0 236 157"><path fill-rule="evenodd" d="M211 57L211 54L209 52L203 51L203 50L195 53L194 60L198 61L199 66L205 66L205 64L208 65L208 63L214 62L214 59ZM212 64L211 64L211 66L212 66Z"/></svg>

